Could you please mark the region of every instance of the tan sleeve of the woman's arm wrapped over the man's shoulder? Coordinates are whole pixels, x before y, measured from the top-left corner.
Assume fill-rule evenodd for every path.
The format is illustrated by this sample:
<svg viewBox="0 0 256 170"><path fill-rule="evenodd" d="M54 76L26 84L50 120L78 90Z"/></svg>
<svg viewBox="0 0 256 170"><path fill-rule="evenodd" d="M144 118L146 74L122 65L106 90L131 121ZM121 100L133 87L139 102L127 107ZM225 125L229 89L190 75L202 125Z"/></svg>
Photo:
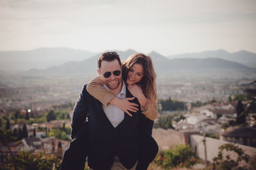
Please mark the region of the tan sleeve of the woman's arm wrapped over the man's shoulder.
<svg viewBox="0 0 256 170"><path fill-rule="evenodd" d="M102 79L100 79L99 75L94 77L87 86L87 91L94 98L99 100L103 105L108 105L110 100L115 98L115 95L105 89L103 86Z"/></svg>

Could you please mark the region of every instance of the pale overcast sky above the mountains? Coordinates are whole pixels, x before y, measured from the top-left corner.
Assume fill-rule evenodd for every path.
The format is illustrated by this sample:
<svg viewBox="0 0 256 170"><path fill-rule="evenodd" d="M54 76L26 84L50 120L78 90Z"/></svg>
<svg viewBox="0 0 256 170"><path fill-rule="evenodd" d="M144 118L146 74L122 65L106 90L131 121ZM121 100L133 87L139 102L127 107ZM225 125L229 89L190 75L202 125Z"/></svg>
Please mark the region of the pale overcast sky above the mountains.
<svg viewBox="0 0 256 170"><path fill-rule="evenodd" d="M0 0L0 50L256 52L256 1Z"/></svg>

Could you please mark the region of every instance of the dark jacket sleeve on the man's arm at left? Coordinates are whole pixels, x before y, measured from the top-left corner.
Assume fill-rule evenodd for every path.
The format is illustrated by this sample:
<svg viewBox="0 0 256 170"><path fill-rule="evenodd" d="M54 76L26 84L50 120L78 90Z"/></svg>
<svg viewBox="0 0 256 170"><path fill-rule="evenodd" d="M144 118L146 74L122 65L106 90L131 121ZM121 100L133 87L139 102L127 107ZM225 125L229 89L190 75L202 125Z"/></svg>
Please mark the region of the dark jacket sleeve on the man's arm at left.
<svg viewBox="0 0 256 170"><path fill-rule="evenodd" d="M83 87L83 91L77 98L76 105L74 106L72 122L71 122L71 138L74 139L79 128L82 127L83 123L88 118L88 109L86 103L86 85Z"/></svg>

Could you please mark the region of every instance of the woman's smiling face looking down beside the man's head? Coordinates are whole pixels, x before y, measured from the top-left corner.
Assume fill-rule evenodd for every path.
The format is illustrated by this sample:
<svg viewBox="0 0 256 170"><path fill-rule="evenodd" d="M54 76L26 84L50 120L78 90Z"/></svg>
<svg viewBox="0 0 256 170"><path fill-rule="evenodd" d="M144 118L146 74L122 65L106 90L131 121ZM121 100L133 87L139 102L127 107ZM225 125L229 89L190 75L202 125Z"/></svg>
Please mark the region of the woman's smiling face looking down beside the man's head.
<svg viewBox="0 0 256 170"><path fill-rule="evenodd" d="M140 64L134 64L131 70L129 70L128 72L126 83L128 85L131 85L131 84L140 82L143 76L144 76L143 66Z"/></svg>

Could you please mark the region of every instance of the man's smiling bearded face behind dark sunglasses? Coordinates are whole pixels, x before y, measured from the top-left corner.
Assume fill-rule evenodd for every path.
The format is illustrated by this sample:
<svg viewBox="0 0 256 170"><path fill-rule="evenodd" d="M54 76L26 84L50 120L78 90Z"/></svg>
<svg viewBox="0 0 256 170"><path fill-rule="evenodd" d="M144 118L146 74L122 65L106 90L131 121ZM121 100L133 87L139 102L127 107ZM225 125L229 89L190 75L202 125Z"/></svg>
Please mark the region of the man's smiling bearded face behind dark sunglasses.
<svg viewBox="0 0 256 170"><path fill-rule="evenodd" d="M98 73L103 83L109 89L116 89L118 88L118 86L120 86L120 83L122 82L122 73L120 73L120 75L116 75L119 71L121 72L121 66L115 59L114 61L102 61ZM111 75L109 77L108 72L111 72Z"/></svg>

